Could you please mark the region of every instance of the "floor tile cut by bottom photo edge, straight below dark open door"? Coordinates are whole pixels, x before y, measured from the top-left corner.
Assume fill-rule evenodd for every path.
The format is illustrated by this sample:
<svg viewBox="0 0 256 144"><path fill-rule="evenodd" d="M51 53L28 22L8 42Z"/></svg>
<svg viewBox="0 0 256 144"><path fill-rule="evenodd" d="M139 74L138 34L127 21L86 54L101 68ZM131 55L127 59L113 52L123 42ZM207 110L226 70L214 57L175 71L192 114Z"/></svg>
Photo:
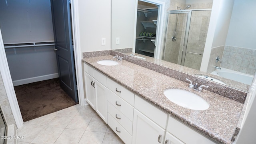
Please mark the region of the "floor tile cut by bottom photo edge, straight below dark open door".
<svg viewBox="0 0 256 144"><path fill-rule="evenodd" d="M65 129L54 144L78 144L84 134L84 130Z"/></svg>

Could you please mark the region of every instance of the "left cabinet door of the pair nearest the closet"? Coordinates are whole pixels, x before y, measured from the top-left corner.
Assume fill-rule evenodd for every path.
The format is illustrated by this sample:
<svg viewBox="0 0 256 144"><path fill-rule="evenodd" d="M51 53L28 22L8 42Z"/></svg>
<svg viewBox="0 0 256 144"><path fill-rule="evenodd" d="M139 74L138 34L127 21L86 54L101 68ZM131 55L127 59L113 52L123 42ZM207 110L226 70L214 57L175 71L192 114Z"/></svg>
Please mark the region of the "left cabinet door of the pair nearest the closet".
<svg viewBox="0 0 256 144"><path fill-rule="evenodd" d="M95 110L95 94L94 94L94 81L92 76L84 72L85 78L85 94L86 94L86 101L92 106Z"/></svg>

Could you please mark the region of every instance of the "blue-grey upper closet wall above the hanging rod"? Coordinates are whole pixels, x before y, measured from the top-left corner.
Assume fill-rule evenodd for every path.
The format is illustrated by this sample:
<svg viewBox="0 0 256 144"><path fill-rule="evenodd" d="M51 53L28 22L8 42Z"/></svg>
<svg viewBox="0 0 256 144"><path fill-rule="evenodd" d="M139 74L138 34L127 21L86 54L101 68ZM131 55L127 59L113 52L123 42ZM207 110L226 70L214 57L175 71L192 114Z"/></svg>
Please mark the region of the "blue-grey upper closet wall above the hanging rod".
<svg viewBox="0 0 256 144"><path fill-rule="evenodd" d="M4 44L54 40L49 0L0 0Z"/></svg>

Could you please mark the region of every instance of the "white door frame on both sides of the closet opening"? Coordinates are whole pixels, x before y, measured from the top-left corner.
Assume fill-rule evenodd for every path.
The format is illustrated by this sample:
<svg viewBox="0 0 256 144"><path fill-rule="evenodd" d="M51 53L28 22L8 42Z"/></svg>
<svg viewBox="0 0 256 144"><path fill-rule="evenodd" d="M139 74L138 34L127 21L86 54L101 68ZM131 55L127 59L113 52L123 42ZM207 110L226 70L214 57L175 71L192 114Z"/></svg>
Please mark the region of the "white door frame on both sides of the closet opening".
<svg viewBox="0 0 256 144"><path fill-rule="evenodd" d="M83 70L82 70L82 54L80 46L80 29L79 29L79 15L78 15L78 0L71 1L71 14L72 14L72 30L73 30L73 42L74 42L74 59L75 59L75 69L76 69L76 80L78 89L78 101L80 105L86 105L84 98L84 84L83 84ZM12 78L6 58L6 53L4 50L4 42L0 29L0 72L2 75L2 80L6 90L6 95L8 97L10 107L16 122L17 128L23 126L23 119L20 112L20 107L18 105L18 100L14 91L14 86L12 84ZM7 122L8 123L8 122Z"/></svg>

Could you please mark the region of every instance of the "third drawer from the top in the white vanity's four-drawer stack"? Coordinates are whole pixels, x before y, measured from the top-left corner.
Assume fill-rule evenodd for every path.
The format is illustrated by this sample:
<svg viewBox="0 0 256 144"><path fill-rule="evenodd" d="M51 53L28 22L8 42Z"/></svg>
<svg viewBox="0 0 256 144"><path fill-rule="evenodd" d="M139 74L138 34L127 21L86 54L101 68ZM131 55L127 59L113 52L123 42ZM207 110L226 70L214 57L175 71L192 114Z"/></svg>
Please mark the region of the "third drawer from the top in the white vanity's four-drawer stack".
<svg viewBox="0 0 256 144"><path fill-rule="evenodd" d="M132 121L108 102L108 113L132 135Z"/></svg>

